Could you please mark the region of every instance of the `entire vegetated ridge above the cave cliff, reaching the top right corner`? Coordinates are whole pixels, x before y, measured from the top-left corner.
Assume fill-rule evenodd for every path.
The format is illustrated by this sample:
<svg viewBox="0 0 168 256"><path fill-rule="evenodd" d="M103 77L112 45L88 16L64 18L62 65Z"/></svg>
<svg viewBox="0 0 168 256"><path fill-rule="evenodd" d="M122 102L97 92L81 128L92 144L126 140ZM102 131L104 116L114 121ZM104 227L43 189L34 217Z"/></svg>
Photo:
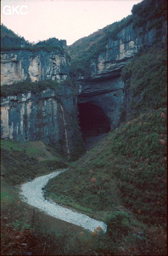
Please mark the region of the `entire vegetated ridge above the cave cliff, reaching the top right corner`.
<svg viewBox="0 0 168 256"><path fill-rule="evenodd" d="M72 73L89 76L91 60L98 58L98 55L104 52L109 38L114 41L118 40L118 33L128 25L132 24L135 36L142 36L145 32L154 28L157 34L155 44L160 42L163 33L163 21L166 20L166 15L167 2L165 0L149 0L134 5L132 15L106 26L86 38L81 38L69 47Z"/></svg>

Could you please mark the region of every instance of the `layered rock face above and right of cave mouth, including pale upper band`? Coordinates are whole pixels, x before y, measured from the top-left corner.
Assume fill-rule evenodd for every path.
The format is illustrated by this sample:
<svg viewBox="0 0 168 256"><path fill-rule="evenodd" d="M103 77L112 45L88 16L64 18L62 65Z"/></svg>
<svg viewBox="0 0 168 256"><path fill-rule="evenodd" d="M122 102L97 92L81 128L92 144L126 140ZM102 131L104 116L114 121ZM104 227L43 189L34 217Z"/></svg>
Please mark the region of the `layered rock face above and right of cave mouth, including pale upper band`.
<svg viewBox="0 0 168 256"><path fill-rule="evenodd" d="M160 42L165 40L165 25L162 22ZM123 111L125 84L121 79L122 68L140 49L154 44L157 37L155 27L139 35L131 23L117 33L117 39L109 37L104 49L91 59L90 77L81 78L79 75L79 103L90 102L102 108L109 118L111 130L120 124Z"/></svg>

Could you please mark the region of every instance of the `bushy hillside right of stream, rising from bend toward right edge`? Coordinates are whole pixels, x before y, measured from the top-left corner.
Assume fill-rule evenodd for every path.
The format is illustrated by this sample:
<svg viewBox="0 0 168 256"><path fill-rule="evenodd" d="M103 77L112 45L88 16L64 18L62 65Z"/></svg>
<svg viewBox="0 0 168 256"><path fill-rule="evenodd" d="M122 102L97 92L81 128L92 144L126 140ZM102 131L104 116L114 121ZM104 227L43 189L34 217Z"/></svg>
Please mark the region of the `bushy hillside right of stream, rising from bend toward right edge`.
<svg viewBox="0 0 168 256"><path fill-rule="evenodd" d="M123 202L137 218L161 224L165 219L165 144L165 109L144 113L111 132L69 172L49 181L48 193L93 212L108 212Z"/></svg>

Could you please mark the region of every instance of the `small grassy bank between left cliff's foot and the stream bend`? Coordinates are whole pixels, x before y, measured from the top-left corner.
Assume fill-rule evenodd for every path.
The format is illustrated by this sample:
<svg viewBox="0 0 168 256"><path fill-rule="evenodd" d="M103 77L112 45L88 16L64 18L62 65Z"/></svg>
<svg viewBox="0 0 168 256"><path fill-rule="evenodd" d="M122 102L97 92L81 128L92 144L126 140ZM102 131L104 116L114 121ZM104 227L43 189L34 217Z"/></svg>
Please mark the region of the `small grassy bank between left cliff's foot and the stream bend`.
<svg viewBox="0 0 168 256"><path fill-rule="evenodd" d="M3 140L1 156L1 176L10 184L20 184L67 166L66 160L42 141L17 143Z"/></svg>

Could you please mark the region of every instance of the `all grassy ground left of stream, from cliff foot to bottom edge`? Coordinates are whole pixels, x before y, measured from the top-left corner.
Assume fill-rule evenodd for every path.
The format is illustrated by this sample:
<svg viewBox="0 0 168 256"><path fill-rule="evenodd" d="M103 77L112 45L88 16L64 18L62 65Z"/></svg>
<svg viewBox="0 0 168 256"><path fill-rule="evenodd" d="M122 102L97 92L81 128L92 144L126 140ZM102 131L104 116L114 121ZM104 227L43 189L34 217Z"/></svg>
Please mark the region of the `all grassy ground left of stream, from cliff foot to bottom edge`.
<svg viewBox="0 0 168 256"><path fill-rule="evenodd" d="M1 255L64 254L68 228L73 236L81 231L20 200L20 183L67 165L54 148L42 141L1 142Z"/></svg>

